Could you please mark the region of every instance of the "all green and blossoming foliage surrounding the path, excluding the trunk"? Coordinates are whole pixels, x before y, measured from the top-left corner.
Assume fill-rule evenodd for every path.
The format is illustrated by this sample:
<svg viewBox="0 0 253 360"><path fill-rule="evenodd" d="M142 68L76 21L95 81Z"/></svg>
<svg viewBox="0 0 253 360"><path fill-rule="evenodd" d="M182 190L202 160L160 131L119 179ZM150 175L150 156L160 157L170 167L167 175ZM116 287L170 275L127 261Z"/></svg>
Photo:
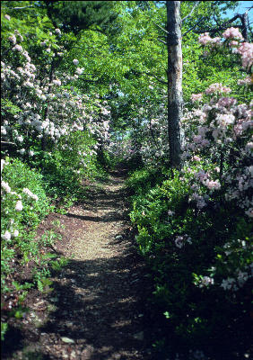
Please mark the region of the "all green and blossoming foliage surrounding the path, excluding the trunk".
<svg viewBox="0 0 253 360"><path fill-rule="evenodd" d="M157 356L249 355L252 44L238 20L203 31L236 4L181 2L182 169L171 171L164 2L3 2L2 338L28 290L50 291L50 268L65 264L39 222L121 162L162 323ZM30 281L13 280L31 262Z"/></svg>

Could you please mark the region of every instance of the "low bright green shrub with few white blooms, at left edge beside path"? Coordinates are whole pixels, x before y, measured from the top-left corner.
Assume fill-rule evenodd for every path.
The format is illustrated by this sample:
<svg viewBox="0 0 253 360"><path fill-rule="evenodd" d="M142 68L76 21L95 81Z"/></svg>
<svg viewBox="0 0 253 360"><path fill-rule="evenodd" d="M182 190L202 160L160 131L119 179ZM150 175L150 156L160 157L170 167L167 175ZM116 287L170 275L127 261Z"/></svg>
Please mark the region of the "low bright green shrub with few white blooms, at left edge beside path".
<svg viewBox="0 0 253 360"><path fill-rule="evenodd" d="M35 169L22 163L19 159L5 158L1 160L1 293L3 299L15 296L17 302L1 303L3 305L3 326L1 339L7 330L10 318L21 319L24 312L23 302L28 290L34 285L46 285L46 278L50 274L48 263L50 254L43 255L41 247L52 243L52 234L48 238L36 238L35 228L48 214L51 207L45 192L43 176ZM33 231L31 230L33 229ZM54 256L55 257L55 256ZM21 284L12 281L13 273L20 272L23 266L32 267L33 279L29 283ZM43 273L43 274L42 274ZM40 275L42 274L42 275ZM16 274L18 275L18 274ZM40 282L40 283L39 283ZM43 283L43 284L44 284ZM48 284L48 283L47 283ZM11 294L11 295L10 295Z"/></svg>

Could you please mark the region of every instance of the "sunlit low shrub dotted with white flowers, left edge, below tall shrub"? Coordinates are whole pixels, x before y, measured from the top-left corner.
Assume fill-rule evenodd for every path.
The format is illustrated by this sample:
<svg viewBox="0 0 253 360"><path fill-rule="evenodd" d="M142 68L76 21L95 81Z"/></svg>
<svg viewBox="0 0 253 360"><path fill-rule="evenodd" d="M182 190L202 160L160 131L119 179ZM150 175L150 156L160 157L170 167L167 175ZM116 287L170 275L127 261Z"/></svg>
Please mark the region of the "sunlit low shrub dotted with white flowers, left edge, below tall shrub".
<svg viewBox="0 0 253 360"><path fill-rule="evenodd" d="M8 157L1 160L1 170L1 291L4 298L7 298L10 280L7 286L6 277L13 272L14 258L19 255L22 261L28 262L31 257L39 255L39 241L35 242L29 231L48 214L50 206L42 175L38 172L25 166L20 160ZM20 292L17 294L20 300L16 306L23 302L26 295L24 290L29 286L20 285ZM10 316L12 313L13 316L20 316L18 314L23 313L22 305L16 311L10 305L8 311Z"/></svg>

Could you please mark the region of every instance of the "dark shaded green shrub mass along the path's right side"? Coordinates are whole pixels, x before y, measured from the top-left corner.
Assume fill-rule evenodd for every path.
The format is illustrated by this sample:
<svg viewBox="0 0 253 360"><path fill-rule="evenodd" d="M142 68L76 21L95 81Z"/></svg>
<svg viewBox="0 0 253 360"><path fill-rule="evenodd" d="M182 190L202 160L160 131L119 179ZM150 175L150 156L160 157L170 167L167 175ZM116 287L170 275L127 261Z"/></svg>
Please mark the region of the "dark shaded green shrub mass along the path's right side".
<svg viewBox="0 0 253 360"><path fill-rule="evenodd" d="M252 223L236 203L222 202L219 191L205 209L197 209L189 201L188 175L166 176L161 183L143 169L127 181L135 192L130 219L153 274L153 301L165 315L164 324L188 347L205 346L208 337L225 338L228 345L238 329L247 342L241 321L249 323ZM222 284L235 275L238 291L231 296ZM165 334L158 342L170 348Z"/></svg>

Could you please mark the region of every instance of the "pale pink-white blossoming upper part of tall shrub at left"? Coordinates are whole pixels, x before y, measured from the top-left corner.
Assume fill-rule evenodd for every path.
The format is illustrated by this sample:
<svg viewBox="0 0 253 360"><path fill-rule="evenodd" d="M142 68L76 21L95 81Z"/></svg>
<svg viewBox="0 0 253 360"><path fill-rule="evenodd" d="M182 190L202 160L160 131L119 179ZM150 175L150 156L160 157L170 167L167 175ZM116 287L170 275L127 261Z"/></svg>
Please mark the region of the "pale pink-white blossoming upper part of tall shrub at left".
<svg viewBox="0 0 253 360"><path fill-rule="evenodd" d="M7 30L4 29L5 56L1 62L1 139L13 141L22 158L31 158L39 148L50 151L61 137L76 130L88 130L98 144L108 146L108 104L100 101L97 94L78 94L74 84L83 73L81 67L76 67L78 59L74 58L71 73L59 67L66 52L60 30L43 34L47 36L43 41L39 41L42 35L38 31L35 49L20 31L8 30L11 19L7 23L3 25ZM26 48L33 50L32 55Z"/></svg>

